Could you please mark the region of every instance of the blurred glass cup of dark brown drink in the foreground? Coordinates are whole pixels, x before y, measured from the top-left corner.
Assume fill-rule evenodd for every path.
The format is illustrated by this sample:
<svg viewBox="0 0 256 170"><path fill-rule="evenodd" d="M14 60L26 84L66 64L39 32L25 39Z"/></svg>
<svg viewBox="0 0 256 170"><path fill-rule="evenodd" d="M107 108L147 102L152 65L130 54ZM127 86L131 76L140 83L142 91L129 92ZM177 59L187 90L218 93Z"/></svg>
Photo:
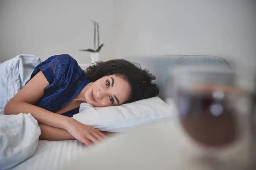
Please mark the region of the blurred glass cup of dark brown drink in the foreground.
<svg viewBox="0 0 256 170"><path fill-rule="evenodd" d="M253 74L255 75L255 74ZM184 132L216 170L255 170L255 79L230 68L183 66L169 73Z"/></svg>

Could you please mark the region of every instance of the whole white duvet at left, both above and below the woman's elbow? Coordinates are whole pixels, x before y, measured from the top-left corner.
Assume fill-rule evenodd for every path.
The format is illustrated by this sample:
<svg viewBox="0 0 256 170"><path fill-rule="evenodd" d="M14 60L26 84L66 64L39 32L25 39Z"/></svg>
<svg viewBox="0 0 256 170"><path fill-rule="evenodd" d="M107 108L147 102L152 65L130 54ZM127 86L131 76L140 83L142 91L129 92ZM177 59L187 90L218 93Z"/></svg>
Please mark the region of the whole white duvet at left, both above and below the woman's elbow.
<svg viewBox="0 0 256 170"><path fill-rule="evenodd" d="M6 103L29 81L40 62L39 57L22 54L0 64L0 170L28 159L38 146L41 130L31 114L3 113Z"/></svg>

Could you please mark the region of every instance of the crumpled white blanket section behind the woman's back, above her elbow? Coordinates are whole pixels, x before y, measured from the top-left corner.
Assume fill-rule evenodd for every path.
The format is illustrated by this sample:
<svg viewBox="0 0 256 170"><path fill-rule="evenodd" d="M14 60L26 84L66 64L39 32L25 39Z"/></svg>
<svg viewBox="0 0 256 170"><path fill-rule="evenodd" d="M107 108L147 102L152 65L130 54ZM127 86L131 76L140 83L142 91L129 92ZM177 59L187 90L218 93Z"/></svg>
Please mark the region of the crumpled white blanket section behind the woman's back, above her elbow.
<svg viewBox="0 0 256 170"><path fill-rule="evenodd" d="M6 103L29 81L41 58L20 54L0 64L0 113Z"/></svg>

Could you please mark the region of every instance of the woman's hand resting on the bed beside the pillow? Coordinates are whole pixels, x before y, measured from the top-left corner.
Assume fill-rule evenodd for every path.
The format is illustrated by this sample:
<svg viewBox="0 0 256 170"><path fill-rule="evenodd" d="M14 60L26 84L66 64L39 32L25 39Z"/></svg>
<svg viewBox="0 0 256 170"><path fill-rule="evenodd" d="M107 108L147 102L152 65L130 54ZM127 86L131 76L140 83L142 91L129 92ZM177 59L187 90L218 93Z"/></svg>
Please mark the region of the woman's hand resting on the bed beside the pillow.
<svg viewBox="0 0 256 170"><path fill-rule="evenodd" d="M84 125L78 122L76 119L70 119L67 124L66 130L77 140L83 142L87 146L92 144L91 142L98 142L103 138L107 137L103 133L99 132L99 130L94 129L88 125Z"/></svg>

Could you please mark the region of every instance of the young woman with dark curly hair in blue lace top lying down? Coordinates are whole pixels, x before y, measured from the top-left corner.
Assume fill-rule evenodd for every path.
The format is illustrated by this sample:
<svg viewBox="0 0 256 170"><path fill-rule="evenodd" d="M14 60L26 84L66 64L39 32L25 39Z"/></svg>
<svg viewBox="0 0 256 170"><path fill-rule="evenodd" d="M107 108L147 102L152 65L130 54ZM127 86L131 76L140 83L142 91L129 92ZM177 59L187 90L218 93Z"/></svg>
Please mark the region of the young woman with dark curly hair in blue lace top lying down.
<svg viewBox="0 0 256 170"><path fill-rule="evenodd" d="M80 104L107 107L157 96L154 79L124 59L96 62L84 73L70 55L55 55L35 68L30 81L6 104L5 114L31 113L41 128L40 139L78 139L90 145L105 135L71 118Z"/></svg>

